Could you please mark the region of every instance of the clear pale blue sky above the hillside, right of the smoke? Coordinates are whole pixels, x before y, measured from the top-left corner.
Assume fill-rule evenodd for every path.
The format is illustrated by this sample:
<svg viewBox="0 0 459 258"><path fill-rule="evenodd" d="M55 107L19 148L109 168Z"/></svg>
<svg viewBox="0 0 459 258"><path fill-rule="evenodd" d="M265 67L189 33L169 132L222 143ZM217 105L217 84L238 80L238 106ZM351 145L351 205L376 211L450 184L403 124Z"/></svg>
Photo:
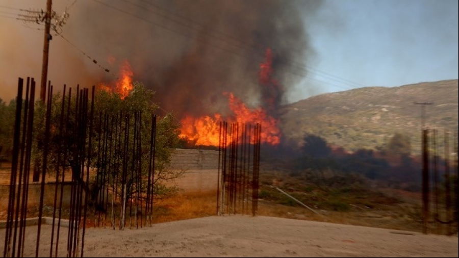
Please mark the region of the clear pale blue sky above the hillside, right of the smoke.
<svg viewBox="0 0 459 258"><path fill-rule="evenodd" d="M458 78L456 0L326 0L319 12L305 19L316 51L312 72L291 101Z"/></svg>

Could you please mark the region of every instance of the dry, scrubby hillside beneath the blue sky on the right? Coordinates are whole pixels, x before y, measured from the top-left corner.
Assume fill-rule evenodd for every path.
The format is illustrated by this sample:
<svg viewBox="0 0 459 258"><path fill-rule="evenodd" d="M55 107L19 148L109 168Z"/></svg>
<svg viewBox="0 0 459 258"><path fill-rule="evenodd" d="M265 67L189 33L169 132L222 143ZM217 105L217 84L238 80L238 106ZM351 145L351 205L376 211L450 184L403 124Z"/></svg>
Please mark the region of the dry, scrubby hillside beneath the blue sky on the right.
<svg viewBox="0 0 459 258"><path fill-rule="evenodd" d="M298 145L305 134L314 134L350 151L384 148L399 133L410 137L412 153L419 154L422 105L415 102L432 103L424 106L426 126L457 130L457 82L364 87L313 96L284 106L281 128L285 138Z"/></svg>

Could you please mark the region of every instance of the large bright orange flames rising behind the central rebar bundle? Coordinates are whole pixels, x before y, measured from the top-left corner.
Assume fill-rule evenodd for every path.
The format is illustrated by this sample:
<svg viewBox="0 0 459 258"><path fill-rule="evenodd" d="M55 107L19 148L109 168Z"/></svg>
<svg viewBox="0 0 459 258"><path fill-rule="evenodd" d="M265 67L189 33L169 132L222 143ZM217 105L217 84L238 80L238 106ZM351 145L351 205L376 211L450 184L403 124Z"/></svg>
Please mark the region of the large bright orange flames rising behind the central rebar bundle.
<svg viewBox="0 0 459 258"><path fill-rule="evenodd" d="M272 78L272 52L270 48L266 49L265 60L260 64L259 82L263 85L263 103L272 109L274 106L275 88L279 84ZM244 123L261 125L260 140L262 143L277 145L281 142L281 131L277 127L278 120L270 116L262 107L249 109L244 102L237 98L231 92L224 92L228 98L229 107L232 115L224 120L228 123ZM220 137L220 114L216 113L213 116L192 117L186 116L181 120L181 137L187 138L190 141L195 141L197 145L219 146ZM228 144L230 144L228 138Z"/></svg>

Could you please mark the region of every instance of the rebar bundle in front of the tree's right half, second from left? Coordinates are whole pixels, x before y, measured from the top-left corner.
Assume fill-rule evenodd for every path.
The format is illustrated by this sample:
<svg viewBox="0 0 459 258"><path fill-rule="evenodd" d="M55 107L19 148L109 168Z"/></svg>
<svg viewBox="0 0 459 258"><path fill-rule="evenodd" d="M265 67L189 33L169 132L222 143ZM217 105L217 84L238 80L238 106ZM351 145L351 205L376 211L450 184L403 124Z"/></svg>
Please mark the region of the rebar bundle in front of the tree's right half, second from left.
<svg viewBox="0 0 459 258"><path fill-rule="evenodd" d="M156 115L99 114L95 225L142 227L152 223ZM150 137L142 140L143 132ZM110 214L110 219L107 216Z"/></svg>

